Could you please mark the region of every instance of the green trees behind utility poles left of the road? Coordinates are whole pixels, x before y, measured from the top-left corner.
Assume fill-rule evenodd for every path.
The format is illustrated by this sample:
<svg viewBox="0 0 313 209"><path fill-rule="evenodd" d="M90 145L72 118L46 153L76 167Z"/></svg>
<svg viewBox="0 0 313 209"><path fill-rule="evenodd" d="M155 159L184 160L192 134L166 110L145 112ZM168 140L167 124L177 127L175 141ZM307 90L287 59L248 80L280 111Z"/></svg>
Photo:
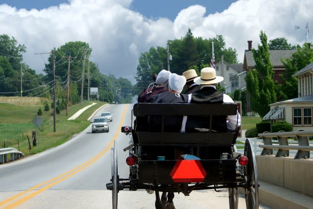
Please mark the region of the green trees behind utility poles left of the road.
<svg viewBox="0 0 313 209"><path fill-rule="evenodd" d="M102 74L98 66L89 60L92 49L88 43L68 42L52 49L53 53L43 69L45 75L36 74L24 63L22 54L25 52L26 47L18 44L14 37L0 35L0 96L22 95L52 99L52 90L56 85L58 100L67 98L69 87L70 104L77 104L81 100L81 92L83 100L87 100L89 80L89 87L98 88L98 98L96 95L89 95L90 100L98 99L108 103L132 102L131 82Z"/></svg>

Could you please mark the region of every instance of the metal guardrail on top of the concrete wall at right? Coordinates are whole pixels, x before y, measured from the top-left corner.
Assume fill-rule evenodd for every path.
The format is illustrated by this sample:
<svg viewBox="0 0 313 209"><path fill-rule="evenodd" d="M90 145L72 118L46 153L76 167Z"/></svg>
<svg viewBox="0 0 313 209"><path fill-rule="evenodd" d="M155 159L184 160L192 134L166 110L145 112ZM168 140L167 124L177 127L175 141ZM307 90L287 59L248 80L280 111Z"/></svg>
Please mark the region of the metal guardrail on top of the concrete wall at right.
<svg viewBox="0 0 313 209"><path fill-rule="evenodd" d="M313 151L313 146L310 146L309 137L313 136L313 131L291 131L291 132L275 132L275 133L259 133L262 137L263 144L259 147L263 148L261 155L272 155L273 149L278 149L275 157L288 157L289 150L297 150L295 159L310 159L310 151ZM276 138L278 145L273 145L272 139ZM288 140L288 139L294 139ZM298 145L290 145L297 143Z"/></svg>

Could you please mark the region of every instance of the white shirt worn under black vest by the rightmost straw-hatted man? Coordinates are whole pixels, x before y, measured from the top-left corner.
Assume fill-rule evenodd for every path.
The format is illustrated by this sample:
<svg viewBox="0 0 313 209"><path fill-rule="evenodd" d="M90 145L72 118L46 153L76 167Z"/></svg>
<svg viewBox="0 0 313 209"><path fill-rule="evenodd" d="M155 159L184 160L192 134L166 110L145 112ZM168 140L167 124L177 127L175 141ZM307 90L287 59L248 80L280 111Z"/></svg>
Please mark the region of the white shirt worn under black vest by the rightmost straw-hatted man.
<svg viewBox="0 0 313 209"><path fill-rule="evenodd" d="M213 87L214 89L216 89L215 85L210 85L210 84L209 85L202 85L201 89L204 87ZM192 94L188 95L188 103L191 102L191 96L192 96ZM224 103L234 103L234 100L230 96L223 94L223 102ZM180 132L185 132L186 121L187 121L187 116L184 116L182 124L181 124ZM235 128L240 126L240 125L241 125L241 117L240 117L238 110L237 110L237 114L228 115L228 120L227 120L227 128L228 129L235 130Z"/></svg>

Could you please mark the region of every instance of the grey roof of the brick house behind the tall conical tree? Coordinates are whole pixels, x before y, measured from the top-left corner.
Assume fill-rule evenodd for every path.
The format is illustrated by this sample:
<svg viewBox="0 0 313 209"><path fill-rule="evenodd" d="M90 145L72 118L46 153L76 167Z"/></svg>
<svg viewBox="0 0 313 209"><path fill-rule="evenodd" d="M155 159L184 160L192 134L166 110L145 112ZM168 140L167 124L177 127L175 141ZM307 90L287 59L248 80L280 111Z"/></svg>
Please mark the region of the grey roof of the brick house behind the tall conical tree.
<svg viewBox="0 0 313 209"><path fill-rule="evenodd" d="M297 49L275 49L275 50L269 50L270 53L270 60L273 65L273 67L280 67L284 66L281 62L281 59L290 58L293 53L295 53ZM255 61L253 57L252 51L246 50L244 52L244 61L246 62L246 66L254 68Z"/></svg>

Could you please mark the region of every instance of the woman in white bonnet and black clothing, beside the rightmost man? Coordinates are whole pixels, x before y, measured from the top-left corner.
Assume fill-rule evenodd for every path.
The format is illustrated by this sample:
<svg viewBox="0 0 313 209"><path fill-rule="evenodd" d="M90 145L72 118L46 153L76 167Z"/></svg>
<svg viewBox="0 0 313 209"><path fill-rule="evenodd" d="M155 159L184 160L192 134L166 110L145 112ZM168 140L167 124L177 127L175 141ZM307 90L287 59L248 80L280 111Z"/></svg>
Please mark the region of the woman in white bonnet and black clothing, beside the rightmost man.
<svg viewBox="0 0 313 209"><path fill-rule="evenodd" d="M169 91L151 96L150 103L188 103L188 95L180 94L186 84L186 78L172 73L168 78ZM182 116L165 116L164 131L179 132L181 129ZM150 127L159 131L161 116L150 116Z"/></svg>

